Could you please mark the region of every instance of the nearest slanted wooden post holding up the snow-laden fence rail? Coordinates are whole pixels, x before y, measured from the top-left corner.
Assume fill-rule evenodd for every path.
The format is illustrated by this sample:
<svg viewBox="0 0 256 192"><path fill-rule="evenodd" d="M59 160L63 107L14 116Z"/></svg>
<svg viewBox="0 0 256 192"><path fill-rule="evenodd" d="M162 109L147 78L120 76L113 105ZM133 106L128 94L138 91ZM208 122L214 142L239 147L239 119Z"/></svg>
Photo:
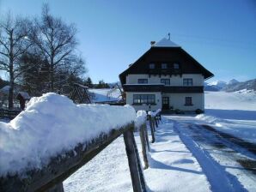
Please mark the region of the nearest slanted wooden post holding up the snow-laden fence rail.
<svg viewBox="0 0 256 192"><path fill-rule="evenodd" d="M143 190L143 183L144 181L141 179L141 173L139 172L139 163L137 162L138 154L136 154L136 143L134 141L134 135L132 130L127 130L124 133L124 140L125 140L125 150L127 153L127 158L129 162L129 168L131 173L131 182L133 191L135 192L142 192Z"/></svg>

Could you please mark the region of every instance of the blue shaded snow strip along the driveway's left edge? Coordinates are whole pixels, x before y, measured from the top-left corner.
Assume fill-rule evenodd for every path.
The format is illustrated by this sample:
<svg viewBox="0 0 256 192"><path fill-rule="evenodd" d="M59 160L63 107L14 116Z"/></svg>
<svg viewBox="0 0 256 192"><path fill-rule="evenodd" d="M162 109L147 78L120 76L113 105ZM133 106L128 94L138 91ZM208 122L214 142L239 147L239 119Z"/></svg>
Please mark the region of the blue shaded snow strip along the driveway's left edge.
<svg viewBox="0 0 256 192"><path fill-rule="evenodd" d="M174 122L174 130L180 135L180 140L198 160L198 163L201 165L206 177L208 178L212 191L247 191L247 189L241 185L234 175L230 174L228 171L225 171L222 165L219 165L216 160L210 156L209 152L200 147L198 143L193 141L189 135L186 135L190 132L187 127L184 127L174 120L170 121Z"/></svg>

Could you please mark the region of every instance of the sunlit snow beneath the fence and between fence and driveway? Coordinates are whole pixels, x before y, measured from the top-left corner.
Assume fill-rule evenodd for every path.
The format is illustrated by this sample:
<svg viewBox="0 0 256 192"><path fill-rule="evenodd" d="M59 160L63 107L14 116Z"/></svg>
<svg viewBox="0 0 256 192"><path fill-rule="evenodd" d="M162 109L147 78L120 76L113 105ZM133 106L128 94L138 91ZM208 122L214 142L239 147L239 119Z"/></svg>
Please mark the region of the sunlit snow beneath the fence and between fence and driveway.
<svg viewBox="0 0 256 192"><path fill-rule="evenodd" d="M136 141L141 152L137 134ZM163 121L155 132L155 141L150 145L149 168L144 170L148 191L210 191L204 171L180 141L174 131L174 123ZM113 141L97 157L65 180L64 190L132 191L123 137Z"/></svg>

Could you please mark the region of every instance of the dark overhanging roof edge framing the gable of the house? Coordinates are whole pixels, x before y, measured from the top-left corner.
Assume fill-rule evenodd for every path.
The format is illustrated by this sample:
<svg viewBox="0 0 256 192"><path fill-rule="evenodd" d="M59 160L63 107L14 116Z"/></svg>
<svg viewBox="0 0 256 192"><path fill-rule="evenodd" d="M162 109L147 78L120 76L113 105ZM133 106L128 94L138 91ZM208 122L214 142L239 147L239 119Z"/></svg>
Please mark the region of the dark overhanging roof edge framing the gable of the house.
<svg viewBox="0 0 256 192"><path fill-rule="evenodd" d="M165 41L164 43L166 43L166 39L164 39L162 41ZM162 41L159 41L156 44L159 44ZM178 52L178 54L181 54L182 57L186 57L186 60L190 61L190 63L192 63L195 66L195 68L198 69L199 73L204 75L204 80L209 79L210 77L213 76L213 74L209 70L205 69L204 66L202 66L200 63L198 63L197 60L195 60L191 55L189 55L186 51L184 51L179 45L176 45L173 42L171 42L171 45L173 45L173 46L164 46L163 44L160 44L160 46L157 46L156 44L155 44L155 46L154 45L151 46L150 49L143 54L143 56L139 57L135 63L131 64L128 69L125 69L125 71L123 71L119 75L119 79L120 79L122 84L125 84L126 75L128 75L128 74L140 74L140 73L136 73L134 71L137 68L140 68L141 66L139 66L139 64L145 63L146 58L149 57L150 54L154 54L154 52L156 52L156 51L157 52L159 52L159 51L165 51L165 52L168 51L169 53ZM150 61L150 62L154 62L154 61Z"/></svg>

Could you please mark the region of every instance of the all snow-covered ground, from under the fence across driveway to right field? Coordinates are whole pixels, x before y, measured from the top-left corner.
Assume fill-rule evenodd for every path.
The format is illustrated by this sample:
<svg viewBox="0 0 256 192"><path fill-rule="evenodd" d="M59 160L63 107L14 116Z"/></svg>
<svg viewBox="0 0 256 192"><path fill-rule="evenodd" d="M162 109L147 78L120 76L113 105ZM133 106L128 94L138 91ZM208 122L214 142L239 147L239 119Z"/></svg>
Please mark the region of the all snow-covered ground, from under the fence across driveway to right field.
<svg viewBox="0 0 256 192"><path fill-rule="evenodd" d="M98 93L106 98L107 90ZM256 164L255 154L236 151L232 144L226 145L200 127L210 125L255 142L255 92L207 92L204 114L162 119L155 132L155 143L150 144L149 168L144 171L148 191L256 191L255 166L246 167ZM135 135L141 152L139 136ZM132 191L123 137L66 179L64 190Z"/></svg>

